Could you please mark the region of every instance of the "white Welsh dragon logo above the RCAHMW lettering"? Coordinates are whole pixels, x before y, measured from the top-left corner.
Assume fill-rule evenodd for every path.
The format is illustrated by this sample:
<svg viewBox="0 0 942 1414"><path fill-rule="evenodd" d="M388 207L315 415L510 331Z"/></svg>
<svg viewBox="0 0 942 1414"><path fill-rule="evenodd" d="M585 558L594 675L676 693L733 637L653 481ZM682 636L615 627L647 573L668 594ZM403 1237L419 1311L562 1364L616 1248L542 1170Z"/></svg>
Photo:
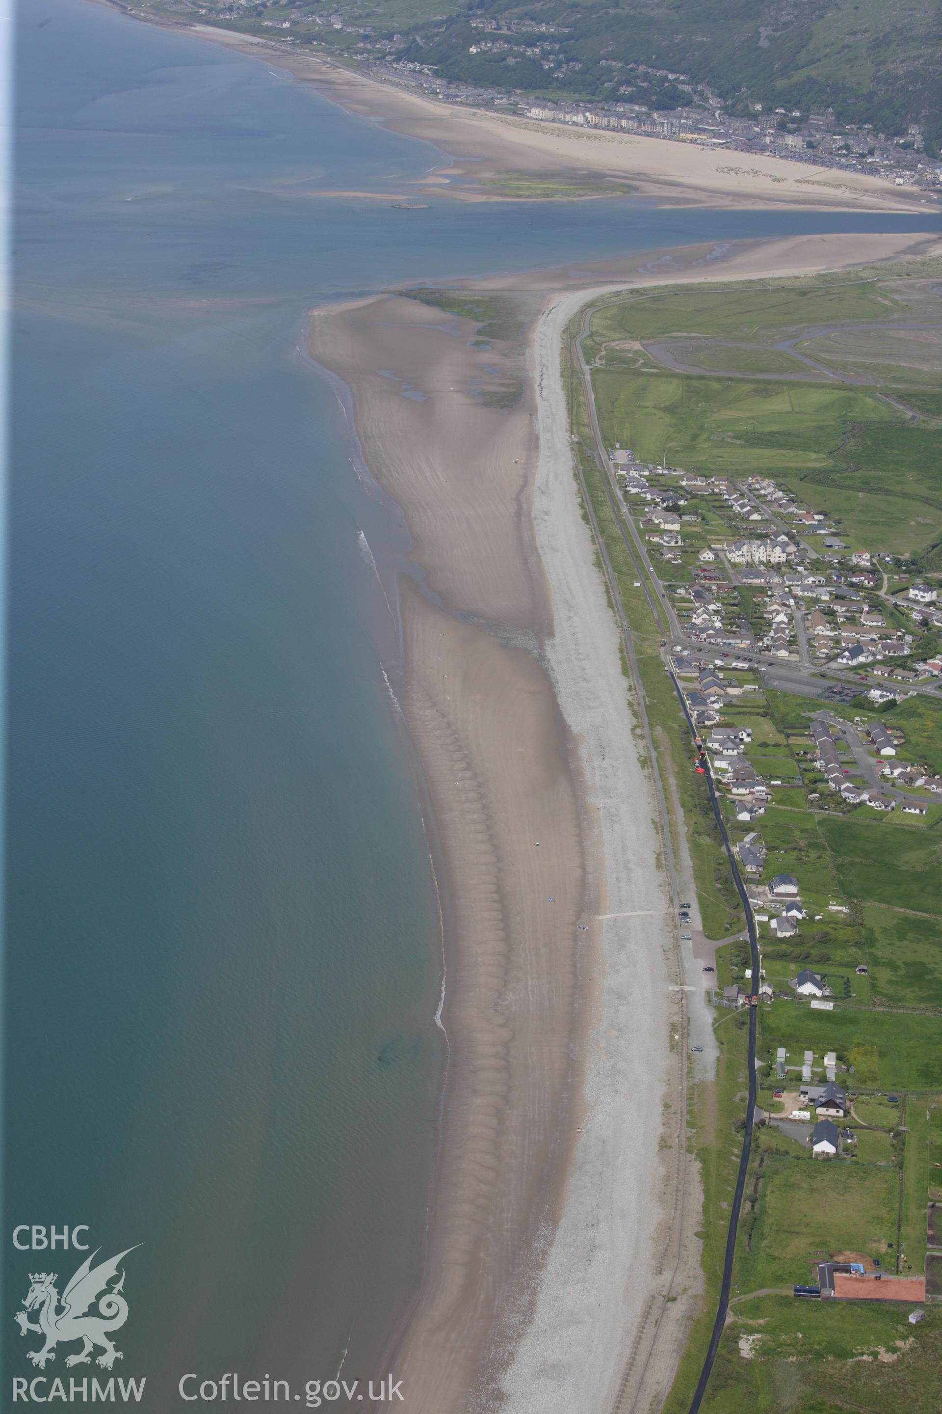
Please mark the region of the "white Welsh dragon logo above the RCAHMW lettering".
<svg viewBox="0 0 942 1414"><path fill-rule="evenodd" d="M140 1244L138 1244L140 1246ZM124 1273L121 1271L117 1285L107 1290L109 1281L117 1277L119 1266L129 1251L120 1251L117 1257L92 1267L92 1261L102 1249L97 1247L85 1258L75 1273L68 1287L62 1292L62 1309L59 1311L59 1292L54 1282L54 1271L31 1271L30 1290L23 1302L23 1311L17 1311L14 1321L20 1326L20 1335L35 1331L45 1336L41 1350L27 1350L27 1359L32 1360L42 1370L47 1360L55 1360L55 1346L59 1342L82 1340L78 1355L66 1356L66 1365L88 1365L92 1350L102 1346L103 1355L97 1356L97 1363L110 1370L116 1360L121 1359L121 1352L112 1345L109 1335L119 1331L127 1321L127 1301L121 1295L124 1287ZM89 1307L97 1309L89 1311ZM30 1321L27 1312L38 1308L38 1322Z"/></svg>

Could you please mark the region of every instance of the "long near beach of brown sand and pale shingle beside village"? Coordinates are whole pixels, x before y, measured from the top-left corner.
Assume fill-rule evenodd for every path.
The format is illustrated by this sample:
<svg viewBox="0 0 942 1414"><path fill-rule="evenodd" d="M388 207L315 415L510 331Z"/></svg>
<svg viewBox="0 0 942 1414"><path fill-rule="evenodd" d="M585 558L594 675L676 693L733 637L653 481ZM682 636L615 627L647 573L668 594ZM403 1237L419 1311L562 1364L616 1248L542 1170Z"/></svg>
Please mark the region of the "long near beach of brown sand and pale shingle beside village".
<svg viewBox="0 0 942 1414"><path fill-rule="evenodd" d="M692 247L669 280L924 246ZM696 1175L665 1109L679 973L660 822L559 366L588 298L662 283L644 256L482 281L527 331L484 348L469 321L398 294L311 318L428 574L428 595L403 592L404 710L435 813L452 1062L425 1281L395 1352L410 1414L589 1414L620 1391L654 1408L699 1290ZM514 407L487 406L524 373Z"/></svg>

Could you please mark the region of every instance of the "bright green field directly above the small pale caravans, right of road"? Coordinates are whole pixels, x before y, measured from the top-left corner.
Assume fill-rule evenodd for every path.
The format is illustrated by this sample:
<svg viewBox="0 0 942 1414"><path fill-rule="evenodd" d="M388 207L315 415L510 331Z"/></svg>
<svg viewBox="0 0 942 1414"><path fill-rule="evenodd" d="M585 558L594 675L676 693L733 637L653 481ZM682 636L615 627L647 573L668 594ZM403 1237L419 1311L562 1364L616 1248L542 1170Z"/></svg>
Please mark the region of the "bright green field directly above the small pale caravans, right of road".
<svg viewBox="0 0 942 1414"><path fill-rule="evenodd" d="M938 1017L880 1011L812 1011L792 1001L763 1008L763 1042L789 1051L836 1051L854 1066L854 1085L883 1090L931 1090L942 1077L942 1025Z"/></svg>

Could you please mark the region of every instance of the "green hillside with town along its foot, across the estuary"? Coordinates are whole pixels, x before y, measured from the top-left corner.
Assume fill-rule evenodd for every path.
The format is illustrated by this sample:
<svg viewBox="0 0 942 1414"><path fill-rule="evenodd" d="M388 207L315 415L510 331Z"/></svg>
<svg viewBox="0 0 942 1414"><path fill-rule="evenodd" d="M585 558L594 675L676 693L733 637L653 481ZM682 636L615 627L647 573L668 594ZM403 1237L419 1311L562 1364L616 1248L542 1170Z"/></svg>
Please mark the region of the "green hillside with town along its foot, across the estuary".
<svg viewBox="0 0 942 1414"><path fill-rule="evenodd" d="M153 3L153 0L151 0ZM942 139L932 0L161 0L254 33L288 30L350 58L554 99L732 115L833 107L839 123ZM660 72L654 72L660 71Z"/></svg>

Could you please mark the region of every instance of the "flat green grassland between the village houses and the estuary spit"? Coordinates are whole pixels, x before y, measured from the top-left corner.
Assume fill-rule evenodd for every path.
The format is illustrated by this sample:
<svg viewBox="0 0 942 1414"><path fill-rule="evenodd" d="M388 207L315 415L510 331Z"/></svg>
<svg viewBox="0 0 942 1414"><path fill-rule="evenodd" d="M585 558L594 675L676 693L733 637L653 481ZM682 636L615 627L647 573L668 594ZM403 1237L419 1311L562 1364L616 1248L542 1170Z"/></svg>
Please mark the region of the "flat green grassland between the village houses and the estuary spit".
<svg viewBox="0 0 942 1414"><path fill-rule="evenodd" d="M905 409L911 386L914 397L926 396L928 373L917 368L914 349L917 355L922 349L926 368L939 355L936 344L919 344L893 321L911 315L942 322L942 298L929 281L919 284L919 301L900 280L832 280L774 290L679 288L597 310L585 344L588 358L609 345L637 349L647 341L648 351L662 359L660 370L593 370L603 436L648 461L667 454L691 471L771 475L832 518L852 547L925 554L931 564L942 556L935 549L942 542L935 472L942 426L938 420L915 423ZM813 382L775 378L801 366L775 344L802 329L813 334L830 321L849 325L826 335L830 352L839 348L850 358L857 349L864 356L880 349L881 362L867 363L873 386L852 387L813 370ZM887 321L886 338L884 331L863 327L877 321ZM679 372L668 366L671 359L703 372ZM716 376L722 369L765 376ZM881 396L883 383L902 406Z"/></svg>

